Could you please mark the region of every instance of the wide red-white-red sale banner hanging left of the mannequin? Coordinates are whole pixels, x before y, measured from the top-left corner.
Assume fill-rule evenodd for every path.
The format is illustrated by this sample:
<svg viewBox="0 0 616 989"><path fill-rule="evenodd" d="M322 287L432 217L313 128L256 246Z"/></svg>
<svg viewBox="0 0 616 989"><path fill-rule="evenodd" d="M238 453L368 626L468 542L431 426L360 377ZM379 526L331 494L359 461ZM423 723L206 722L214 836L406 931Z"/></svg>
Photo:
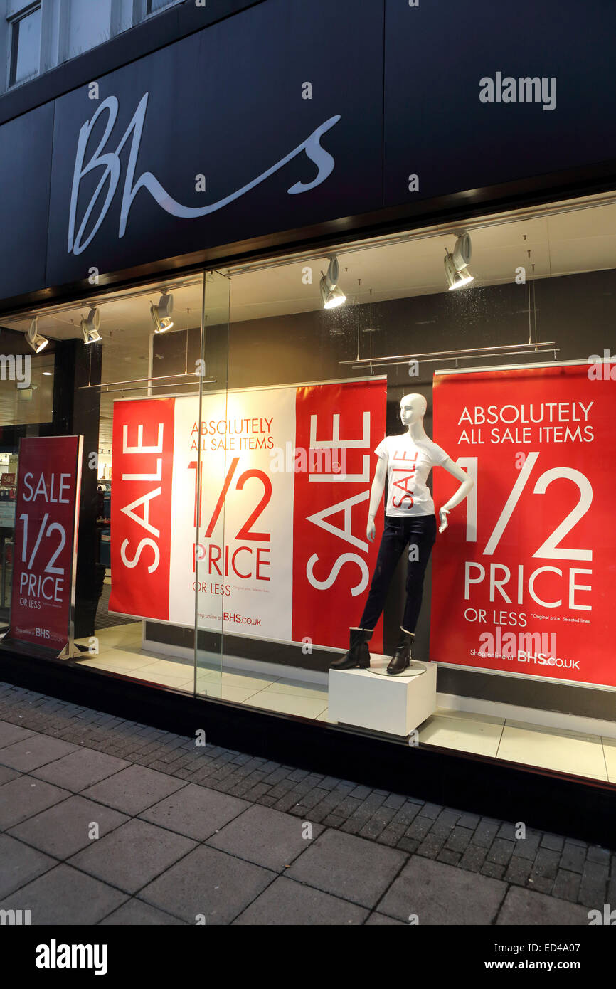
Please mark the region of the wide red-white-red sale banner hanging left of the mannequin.
<svg viewBox="0 0 616 989"><path fill-rule="evenodd" d="M110 611L344 647L385 417L384 379L117 402Z"/></svg>

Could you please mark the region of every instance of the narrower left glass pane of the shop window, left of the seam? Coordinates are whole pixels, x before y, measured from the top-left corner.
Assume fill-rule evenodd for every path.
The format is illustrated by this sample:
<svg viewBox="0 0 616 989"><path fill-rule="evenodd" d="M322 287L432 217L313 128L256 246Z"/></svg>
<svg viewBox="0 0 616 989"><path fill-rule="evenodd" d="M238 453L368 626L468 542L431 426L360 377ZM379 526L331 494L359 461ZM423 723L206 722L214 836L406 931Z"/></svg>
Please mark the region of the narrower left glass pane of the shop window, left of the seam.
<svg viewBox="0 0 616 989"><path fill-rule="evenodd" d="M196 641L194 426L202 388L216 388L224 404L226 325L217 333L217 360L211 358L211 331L203 329L208 318L220 323L225 305L228 318L228 279L218 276L215 283L215 277L210 273L206 286L196 274L47 309L34 323L34 343L43 349L30 361L38 388L35 382L45 381L41 376L53 368L46 355L55 352L56 392L63 401L52 431L84 437L74 661L192 692L199 647L210 693L217 691L217 671L220 678L220 629L214 640ZM32 315L10 320L10 327L10 338L28 349ZM19 399L5 392L8 416ZM16 448L6 452L3 475L14 495L10 457ZM204 515L212 510L202 504Z"/></svg>

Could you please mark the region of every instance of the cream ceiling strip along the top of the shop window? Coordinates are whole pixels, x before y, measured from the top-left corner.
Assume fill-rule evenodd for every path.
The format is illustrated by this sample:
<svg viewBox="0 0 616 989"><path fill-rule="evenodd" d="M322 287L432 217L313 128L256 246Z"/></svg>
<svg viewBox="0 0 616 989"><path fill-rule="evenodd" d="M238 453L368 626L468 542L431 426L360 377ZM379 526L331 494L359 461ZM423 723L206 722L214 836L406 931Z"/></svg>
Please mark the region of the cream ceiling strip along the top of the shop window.
<svg viewBox="0 0 616 989"><path fill-rule="evenodd" d="M616 203L549 217L533 217L472 229L471 270L475 287L512 282L515 270L524 265L527 278L549 278L616 265ZM370 249L340 252L340 285L352 303L382 302L407 296L445 292L443 257L452 249L455 235L396 242ZM530 252L530 254L529 254ZM311 284L304 284L306 266L312 270ZM320 307L318 282L327 265L295 261L256 271L233 273L230 279L230 320L306 313ZM222 284L224 282L224 284ZM154 283L130 294L101 299L101 333L114 345L124 361L147 361L151 322L149 304L156 302L162 283ZM216 325L228 318L225 280L206 286L207 322ZM200 277L187 284L171 286L174 295L175 328L199 323L202 303ZM371 291L372 290L372 291ZM95 298L95 297L93 297ZM79 320L88 307L41 313L39 331L55 339L81 335ZM25 330L29 316L5 319L5 325ZM122 353L122 356L121 356ZM114 365L116 361L114 361ZM118 376L116 375L116 378Z"/></svg>

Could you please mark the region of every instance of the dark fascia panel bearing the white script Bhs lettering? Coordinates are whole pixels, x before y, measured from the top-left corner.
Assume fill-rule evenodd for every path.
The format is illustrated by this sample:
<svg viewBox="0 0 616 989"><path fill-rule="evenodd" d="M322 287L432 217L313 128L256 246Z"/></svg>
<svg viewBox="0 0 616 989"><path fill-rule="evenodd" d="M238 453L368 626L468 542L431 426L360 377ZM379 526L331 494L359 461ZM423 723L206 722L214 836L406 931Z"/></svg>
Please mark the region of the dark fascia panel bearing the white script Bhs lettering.
<svg viewBox="0 0 616 989"><path fill-rule="evenodd" d="M378 210L382 4L359 21L353 0L330 7L268 0L102 76L98 102L86 86L59 97L45 283L193 265Z"/></svg>

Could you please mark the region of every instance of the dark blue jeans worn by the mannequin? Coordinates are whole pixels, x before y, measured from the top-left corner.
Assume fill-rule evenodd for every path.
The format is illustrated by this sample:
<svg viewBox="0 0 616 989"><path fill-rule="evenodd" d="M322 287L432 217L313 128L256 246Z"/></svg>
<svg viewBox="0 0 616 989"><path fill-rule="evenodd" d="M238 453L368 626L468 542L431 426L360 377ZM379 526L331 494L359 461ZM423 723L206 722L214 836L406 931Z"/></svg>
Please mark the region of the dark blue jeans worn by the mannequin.
<svg viewBox="0 0 616 989"><path fill-rule="evenodd" d="M423 576L436 540L436 518L434 515L410 515L408 518L385 516L385 530L379 548L377 566L370 584L370 593L360 628L374 628L385 606L385 599L396 570L397 562L406 546L409 547L408 570L406 572L406 604L402 628L414 632L421 595ZM416 546L416 551L413 547ZM416 560L413 557L416 556Z"/></svg>

